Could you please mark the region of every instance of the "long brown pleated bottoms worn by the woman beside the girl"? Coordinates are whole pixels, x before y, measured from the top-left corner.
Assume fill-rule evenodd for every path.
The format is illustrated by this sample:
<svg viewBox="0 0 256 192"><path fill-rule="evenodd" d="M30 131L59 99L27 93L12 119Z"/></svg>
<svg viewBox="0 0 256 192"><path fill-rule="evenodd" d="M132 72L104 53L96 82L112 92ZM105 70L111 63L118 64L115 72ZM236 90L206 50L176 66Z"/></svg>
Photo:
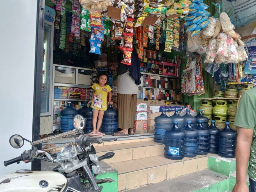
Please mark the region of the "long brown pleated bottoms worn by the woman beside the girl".
<svg viewBox="0 0 256 192"><path fill-rule="evenodd" d="M134 126L137 94L127 95L117 93L118 128L129 129Z"/></svg>

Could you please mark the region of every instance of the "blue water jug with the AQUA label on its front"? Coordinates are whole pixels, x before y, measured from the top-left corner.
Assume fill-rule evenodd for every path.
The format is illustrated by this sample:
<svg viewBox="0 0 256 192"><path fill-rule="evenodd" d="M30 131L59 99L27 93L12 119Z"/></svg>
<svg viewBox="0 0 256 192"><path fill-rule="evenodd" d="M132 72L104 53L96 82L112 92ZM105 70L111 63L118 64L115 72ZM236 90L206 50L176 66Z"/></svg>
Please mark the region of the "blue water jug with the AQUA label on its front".
<svg viewBox="0 0 256 192"><path fill-rule="evenodd" d="M184 158L183 130L178 128L178 122L174 121L172 129L165 132L164 156L168 159L180 160Z"/></svg>

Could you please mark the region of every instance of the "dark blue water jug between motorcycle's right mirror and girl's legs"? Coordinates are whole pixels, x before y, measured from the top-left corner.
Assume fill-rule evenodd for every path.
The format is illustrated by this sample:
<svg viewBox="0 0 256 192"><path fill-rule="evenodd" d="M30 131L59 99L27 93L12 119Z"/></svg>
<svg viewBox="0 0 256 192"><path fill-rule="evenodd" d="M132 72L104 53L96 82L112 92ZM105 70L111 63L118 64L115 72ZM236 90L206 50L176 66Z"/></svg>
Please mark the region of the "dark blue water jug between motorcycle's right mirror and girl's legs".
<svg viewBox="0 0 256 192"><path fill-rule="evenodd" d="M78 110L78 114L82 115L84 118L86 118L86 123L85 123L85 128L84 128L84 133L90 133L92 132L92 108L87 107L87 102L84 101L84 105L82 108Z"/></svg>

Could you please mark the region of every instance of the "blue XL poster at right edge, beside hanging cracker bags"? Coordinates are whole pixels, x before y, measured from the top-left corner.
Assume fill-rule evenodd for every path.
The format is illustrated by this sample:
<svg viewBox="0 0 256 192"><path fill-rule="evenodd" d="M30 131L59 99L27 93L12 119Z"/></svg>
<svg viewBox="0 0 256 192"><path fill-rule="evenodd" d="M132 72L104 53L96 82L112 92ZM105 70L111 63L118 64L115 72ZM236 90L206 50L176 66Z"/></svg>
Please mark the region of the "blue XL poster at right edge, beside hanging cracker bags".
<svg viewBox="0 0 256 192"><path fill-rule="evenodd" d="M244 74L256 74L256 44L255 41L248 42L248 60L244 65Z"/></svg>

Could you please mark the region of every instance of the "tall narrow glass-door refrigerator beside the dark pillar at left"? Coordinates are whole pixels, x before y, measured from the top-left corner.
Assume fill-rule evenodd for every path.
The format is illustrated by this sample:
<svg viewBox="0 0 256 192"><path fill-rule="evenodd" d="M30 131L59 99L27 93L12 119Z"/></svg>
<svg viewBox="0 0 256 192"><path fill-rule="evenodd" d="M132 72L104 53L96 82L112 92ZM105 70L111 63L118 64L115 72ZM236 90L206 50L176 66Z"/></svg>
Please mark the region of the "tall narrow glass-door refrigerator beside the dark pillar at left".
<svg viewBox="0 0 256 192"><path fill-rule="evenodd" d="M52 115L53 23L44 21L44 53L42 56L41 116Z"/></svg>

